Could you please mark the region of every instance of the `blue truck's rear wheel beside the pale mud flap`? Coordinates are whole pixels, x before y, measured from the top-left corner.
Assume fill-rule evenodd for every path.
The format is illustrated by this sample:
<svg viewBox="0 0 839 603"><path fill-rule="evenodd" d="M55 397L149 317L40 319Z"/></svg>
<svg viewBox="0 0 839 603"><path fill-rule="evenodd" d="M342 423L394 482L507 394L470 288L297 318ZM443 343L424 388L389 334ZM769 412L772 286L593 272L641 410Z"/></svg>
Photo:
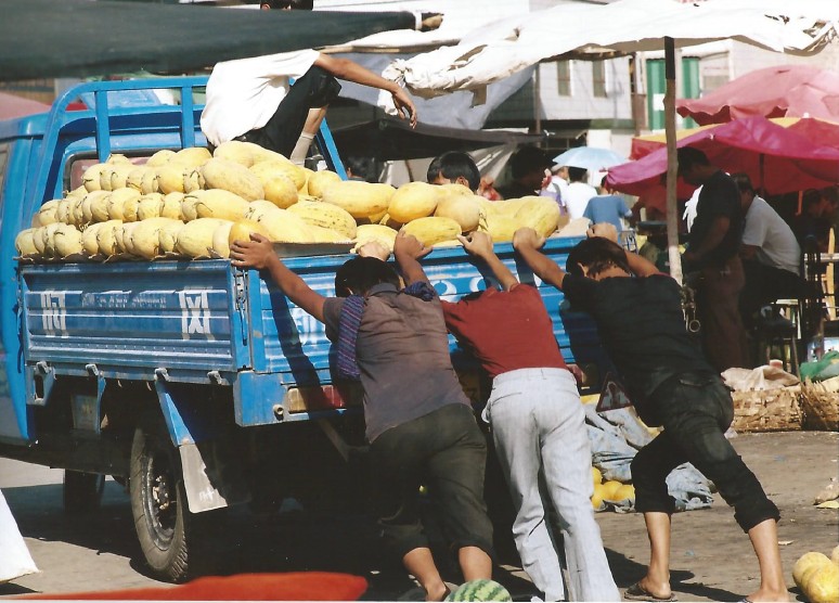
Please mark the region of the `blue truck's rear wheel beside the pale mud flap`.
<svg viewBox="0 0 839 603"><path fill-rule="evenodd" d="M145 561L155 577L188 577L190 512L178 450L165 426L138 427L131 446L131 512Z"/></svg>

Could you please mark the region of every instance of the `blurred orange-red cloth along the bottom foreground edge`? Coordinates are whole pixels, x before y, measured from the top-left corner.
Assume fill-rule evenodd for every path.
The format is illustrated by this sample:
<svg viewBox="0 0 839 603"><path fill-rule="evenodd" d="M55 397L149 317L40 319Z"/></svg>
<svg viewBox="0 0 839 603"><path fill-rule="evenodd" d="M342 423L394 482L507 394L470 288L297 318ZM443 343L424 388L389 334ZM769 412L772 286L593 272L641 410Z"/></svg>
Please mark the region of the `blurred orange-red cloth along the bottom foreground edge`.
<svg viewBox="0 0 839 603"><path fill-rule="evenodd" d="M15 599L105 601L358 601L367 590L360 576L330 572L207 576L160 588L35 594Z"/></svg>

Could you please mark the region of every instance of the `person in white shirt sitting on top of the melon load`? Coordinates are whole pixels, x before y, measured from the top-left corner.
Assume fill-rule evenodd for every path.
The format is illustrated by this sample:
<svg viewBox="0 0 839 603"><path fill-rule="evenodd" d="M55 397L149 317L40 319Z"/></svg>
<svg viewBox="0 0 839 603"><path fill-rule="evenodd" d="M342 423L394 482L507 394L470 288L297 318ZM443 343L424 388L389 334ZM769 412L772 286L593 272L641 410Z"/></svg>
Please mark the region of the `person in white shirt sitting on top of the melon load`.
<svg viewBox="0 0 839 603"><path fill-rule="evenodd" d="M310 11L313 0L270 0L259 8ZM399 116L416 126L416 107L397 82L349 59L308 49L216 63L201 129L214 146L254 142L302 165L327 105L340 92L336 78L390 92Z"/></svg>

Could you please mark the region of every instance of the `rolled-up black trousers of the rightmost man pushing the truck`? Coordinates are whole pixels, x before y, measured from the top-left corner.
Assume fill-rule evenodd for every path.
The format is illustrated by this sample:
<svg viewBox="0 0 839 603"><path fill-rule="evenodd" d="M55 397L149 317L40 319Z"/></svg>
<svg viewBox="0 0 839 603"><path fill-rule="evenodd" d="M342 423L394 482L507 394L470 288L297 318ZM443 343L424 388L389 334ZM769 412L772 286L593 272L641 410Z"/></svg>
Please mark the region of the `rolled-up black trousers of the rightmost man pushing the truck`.
<svg viewBox="0 0 839 603"><path fill-rule="evenodd" d="M765 519L777 521L777 506L766 498L754 474L725 438L734 418L731 394L719 376L683 373L660 385L649 397L664 429L632 461L635 509L640 513L673 513L667 476L682 463L692 463L714 483L734 508L744 531Z"/></svg>

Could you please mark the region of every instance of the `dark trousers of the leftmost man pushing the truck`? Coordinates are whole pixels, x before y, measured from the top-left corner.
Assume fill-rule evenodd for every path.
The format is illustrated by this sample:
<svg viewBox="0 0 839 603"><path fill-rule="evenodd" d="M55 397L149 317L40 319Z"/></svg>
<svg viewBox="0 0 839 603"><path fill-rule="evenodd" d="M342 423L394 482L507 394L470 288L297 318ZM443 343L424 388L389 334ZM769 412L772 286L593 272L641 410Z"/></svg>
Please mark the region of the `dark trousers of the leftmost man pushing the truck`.
<svg viewBox="0 0 839 603"><path fill-rule="evenodd" d="M399 557L429 547L420 486L453 551L478 547L494 559L492 524L483 502L487 441L472 408L453 403L392 427L371 445L382 492L385 543Z"/></svg>

